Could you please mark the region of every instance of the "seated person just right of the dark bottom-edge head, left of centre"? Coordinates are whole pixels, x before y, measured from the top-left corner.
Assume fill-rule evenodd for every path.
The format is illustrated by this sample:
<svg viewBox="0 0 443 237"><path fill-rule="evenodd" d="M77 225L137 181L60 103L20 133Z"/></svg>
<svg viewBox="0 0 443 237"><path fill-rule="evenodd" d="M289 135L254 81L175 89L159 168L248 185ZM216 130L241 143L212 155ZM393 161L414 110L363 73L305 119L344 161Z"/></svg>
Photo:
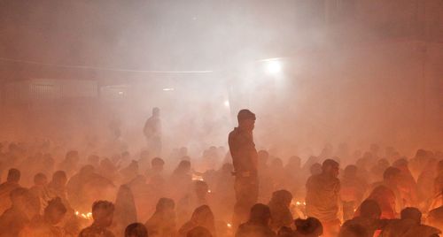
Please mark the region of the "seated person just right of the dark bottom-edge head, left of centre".
<svg viewBox="0 0 443 237"><path fill-rule="evenodd" d="M152 237L174 237L177 233L175 226L174 200L162 197L155 207L155 212L144 224Z"/></svg>

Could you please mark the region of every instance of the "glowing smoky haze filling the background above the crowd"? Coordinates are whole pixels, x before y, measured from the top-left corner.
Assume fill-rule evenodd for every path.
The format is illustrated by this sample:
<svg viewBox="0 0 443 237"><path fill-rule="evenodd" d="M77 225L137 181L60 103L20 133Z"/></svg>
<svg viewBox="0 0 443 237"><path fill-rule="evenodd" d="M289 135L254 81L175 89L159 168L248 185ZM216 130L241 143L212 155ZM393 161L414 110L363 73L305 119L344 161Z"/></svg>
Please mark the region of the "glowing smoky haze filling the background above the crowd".
<svg viewBox="0 0 443 237"><path fill-rule="evenodd" d="M167 147L196 156L226 146L242 108L284 158L441 149L443 3L2 0L0 88L3 140L105 141L116 119L137 150L159 106Z"/></svg>

